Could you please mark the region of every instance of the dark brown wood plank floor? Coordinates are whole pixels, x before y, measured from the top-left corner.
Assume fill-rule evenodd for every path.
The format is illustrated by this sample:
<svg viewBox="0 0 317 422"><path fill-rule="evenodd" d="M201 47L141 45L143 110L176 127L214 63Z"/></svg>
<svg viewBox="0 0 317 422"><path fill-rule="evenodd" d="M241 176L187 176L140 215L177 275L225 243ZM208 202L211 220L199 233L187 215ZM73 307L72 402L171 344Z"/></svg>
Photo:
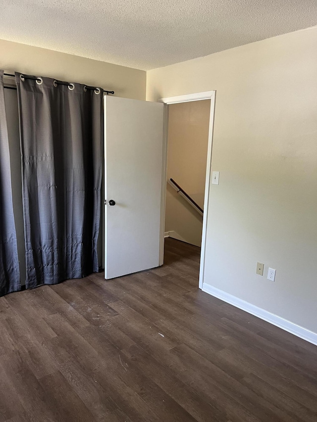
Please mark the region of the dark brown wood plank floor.
<svg viewBox="0 0 317 422"><path fill-rule="evenodd" d="M317 422L317 347L163 267L0 298L0 422Z"/></svg>

